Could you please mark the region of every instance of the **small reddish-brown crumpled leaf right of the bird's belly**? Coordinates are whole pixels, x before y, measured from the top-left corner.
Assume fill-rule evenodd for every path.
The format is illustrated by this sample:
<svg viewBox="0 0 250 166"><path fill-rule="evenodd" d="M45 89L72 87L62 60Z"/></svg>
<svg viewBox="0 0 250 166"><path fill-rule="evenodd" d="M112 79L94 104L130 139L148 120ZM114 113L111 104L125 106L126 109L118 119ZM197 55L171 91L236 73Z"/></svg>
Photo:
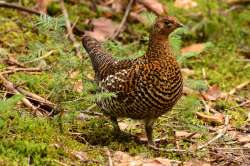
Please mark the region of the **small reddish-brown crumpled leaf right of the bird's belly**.
<svg viewBox="0 0 250 166"><path fill-rule="evenodd" d="M220 91L218 85L211 86L207 92L202 93L202 97L205 100L217 100L218 98L222 97L223 93Z"/></svg>

